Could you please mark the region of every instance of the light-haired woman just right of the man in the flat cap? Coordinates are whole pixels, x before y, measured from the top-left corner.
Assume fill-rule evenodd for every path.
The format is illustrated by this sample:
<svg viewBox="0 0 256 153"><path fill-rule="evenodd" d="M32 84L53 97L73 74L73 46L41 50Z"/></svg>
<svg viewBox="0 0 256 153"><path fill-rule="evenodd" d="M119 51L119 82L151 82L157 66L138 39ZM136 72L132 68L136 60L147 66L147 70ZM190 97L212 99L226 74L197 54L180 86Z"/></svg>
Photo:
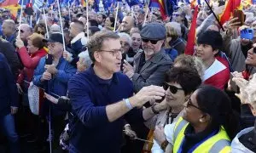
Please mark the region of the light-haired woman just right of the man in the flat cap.
<svg viewBox="0 0 256 153"><path fill-rule="evenodd" d="M183 54L185 51L186 42L181 38L181 26L177 22L169 22L166 24L166 52L174 48L177 54ZM173 53L173 55L175 55Z"/></svg>

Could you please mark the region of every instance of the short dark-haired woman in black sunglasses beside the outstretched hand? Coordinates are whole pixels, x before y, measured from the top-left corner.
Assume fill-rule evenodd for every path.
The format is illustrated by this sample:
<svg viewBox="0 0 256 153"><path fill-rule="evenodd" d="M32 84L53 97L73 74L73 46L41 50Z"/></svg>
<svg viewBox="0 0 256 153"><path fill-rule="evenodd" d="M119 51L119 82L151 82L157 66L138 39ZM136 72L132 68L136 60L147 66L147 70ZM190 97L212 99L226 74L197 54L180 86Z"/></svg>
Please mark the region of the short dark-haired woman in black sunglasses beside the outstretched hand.
<svg viewBox="0 0 256 153"><path fill-rule="evenodd" d="M160 114L154 116L150 122L151 131L148 134L148 139L152 141L154 127L158 125L171 124L177 120L177 115L183 111L183 104L189 99L190 95L201 85L201 77L198 72L191 67L173 67L166 72L166 82L164 88L166 89L166 98L163 102L167 105L166 111L161 111ZM151 139L149 138L151 137ZM148 151L152 144L144 145L144 149L148 146ZM152 152L160 150L160 145L154 142Z"/></svg>

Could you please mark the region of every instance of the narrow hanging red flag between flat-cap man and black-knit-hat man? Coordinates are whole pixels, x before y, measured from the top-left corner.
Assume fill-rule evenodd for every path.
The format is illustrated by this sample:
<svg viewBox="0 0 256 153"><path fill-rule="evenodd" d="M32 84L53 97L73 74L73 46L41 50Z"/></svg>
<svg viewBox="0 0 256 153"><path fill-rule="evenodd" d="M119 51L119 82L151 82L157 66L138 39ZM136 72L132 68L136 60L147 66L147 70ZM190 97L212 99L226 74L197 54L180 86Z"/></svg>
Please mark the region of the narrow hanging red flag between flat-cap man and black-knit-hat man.
<svg viewBox="0 0 256 153"><path fill-rule="evenodd" d="M192 22L191 22L191 26L188 34L188 42L185 48L185 54L189 54L189 55L194 54L197 14L198 14L198 5L195 6L195 11L193 14L193 18L192 18Z"/></svg>

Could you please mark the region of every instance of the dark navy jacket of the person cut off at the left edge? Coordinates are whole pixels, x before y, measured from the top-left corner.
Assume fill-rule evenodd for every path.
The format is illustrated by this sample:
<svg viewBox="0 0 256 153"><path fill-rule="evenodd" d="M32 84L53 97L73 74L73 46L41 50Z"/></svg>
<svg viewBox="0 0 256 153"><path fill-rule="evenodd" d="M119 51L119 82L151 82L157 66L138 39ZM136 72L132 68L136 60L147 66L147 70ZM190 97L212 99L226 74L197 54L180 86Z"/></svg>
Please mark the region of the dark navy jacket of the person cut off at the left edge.
<svg viewBox="0 0 256 153"><path fill-rule="evenodd" d="M0 116L10 113L10 106L18 107L18 91L7 59L0 53Z"/></svg>

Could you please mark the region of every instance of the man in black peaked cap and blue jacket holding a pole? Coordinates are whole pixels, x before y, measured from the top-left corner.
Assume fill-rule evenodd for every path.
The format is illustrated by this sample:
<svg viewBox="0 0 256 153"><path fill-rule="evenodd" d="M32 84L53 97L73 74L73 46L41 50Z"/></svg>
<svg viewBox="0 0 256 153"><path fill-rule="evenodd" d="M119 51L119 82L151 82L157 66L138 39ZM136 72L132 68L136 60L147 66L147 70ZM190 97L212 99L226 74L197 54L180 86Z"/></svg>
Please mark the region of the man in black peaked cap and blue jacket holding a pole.
<svg viewBox="0 0 256 153"><path fill-rule="evenodd" d="M46 58L40 59L38 67L34 71L33 83L44 89L49 89L49 94L59 96L67 95L67 82L76 72L73 65L70 65L67 60L63 59L63 40L61 33L52 33L49 39L44 39L48 42L49 53L53 56L52 65L46 65ZM49 102L44 103L44 115L49 116ZM66 111L61 111L55 105L51 105L51 123L54 131L53 148L59 146L58 139L61 131L65 127L64 118Z"/></svg>

